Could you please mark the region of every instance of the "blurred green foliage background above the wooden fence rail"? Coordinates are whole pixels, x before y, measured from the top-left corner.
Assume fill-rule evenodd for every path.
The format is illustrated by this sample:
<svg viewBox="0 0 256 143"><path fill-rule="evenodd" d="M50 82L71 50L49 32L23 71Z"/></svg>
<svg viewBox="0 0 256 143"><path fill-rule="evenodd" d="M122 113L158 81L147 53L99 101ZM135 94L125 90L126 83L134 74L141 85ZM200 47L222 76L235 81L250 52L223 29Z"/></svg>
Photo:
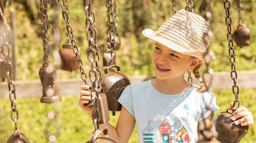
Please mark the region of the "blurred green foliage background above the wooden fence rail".
<svg viewBox="0 0 256 143"><path fill-rule="evenodd" d="M195 13L199 14L199 7L202 0L194 0ZM236 49L236 70L255 70L256 56L256 0L244 0L243 21L251 31L251 41L249 46L237 47ZM230 14L232 17L232 31L238 25L238 6L237 1L231 1ZM38 71L43 63L43 45L40 28L39 0L10 0L10 4L5 9L5 17L8 23L9 10L16 10L16 60L17 60L17 80L35 80L38 79ZM184 9L185 1L177 3L177 10ZM230 71L228 56L228 42L226 40L225 11L223 1L212 0L213 15L209 20L213 37L210 43L210 49L217 57L211 63L214 71ZM59 8L59 19L57 25L60 29L61 42L54 50L58 51L64 43L68 41L66 24L62 18L61 8ZM96 15L95 28L97 28L97 44L101 55L106 50L106 4L104 0L94 1L93 11ZM86 58L86 49L88 43L85 35L85 12L81 0L69 0L68 12L70 24L74 31L75 39L81 49L84 67L88 71L88 60ZM157 30L161 24L172 16L172 3L166 0L119 0L118 1L118 34L121 39L121 48L117 51L117 65L120 65L121 71L127 75L154 75L151 66L151 53L154 41L143 37L141 31L146 28ZM53 10L48 5L48 15L51 19ZM49 41L52 41L51 28L48 31ZM51 52L52 53L52 52ZM254 60L253 60L254 59ZM50 62L55 65L53 57ZM102 62L100 63L102 65ZM88 72L86 72L88 73ZM58 70L59 78L80 77L80 72ZM239 72L238 72L239 74ZM238 75L239 77L239 75Z"/></svg>

